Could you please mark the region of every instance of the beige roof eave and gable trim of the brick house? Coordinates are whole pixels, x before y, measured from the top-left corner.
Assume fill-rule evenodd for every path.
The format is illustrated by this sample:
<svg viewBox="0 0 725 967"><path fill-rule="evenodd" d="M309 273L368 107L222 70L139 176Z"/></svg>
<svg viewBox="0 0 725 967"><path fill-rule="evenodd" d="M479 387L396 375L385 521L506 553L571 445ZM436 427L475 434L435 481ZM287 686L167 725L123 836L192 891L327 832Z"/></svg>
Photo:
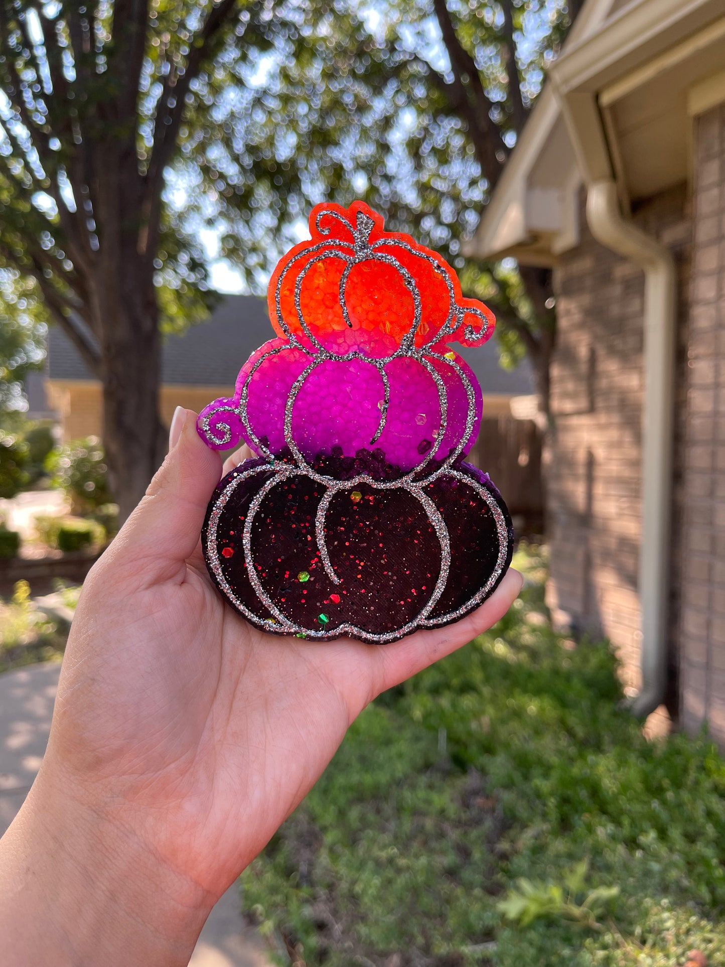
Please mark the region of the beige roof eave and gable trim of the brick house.
<svg viewBox="0 0 725 967"><path fill-rule="evenodd" d="M723 0L587 0L467 254L554 265L578 242L582 183L615 178L626 209L686 181L692 118L725 100L723 64ZM606 146L594 128L569 134L593 99Z"/></svg>

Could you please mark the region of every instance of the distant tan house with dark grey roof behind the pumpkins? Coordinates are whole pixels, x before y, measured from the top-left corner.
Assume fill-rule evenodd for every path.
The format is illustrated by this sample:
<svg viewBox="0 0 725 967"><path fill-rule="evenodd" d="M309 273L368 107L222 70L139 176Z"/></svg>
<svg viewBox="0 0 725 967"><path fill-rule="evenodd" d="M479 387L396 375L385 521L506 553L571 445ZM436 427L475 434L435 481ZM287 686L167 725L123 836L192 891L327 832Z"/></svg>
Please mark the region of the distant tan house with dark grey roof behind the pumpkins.
<svg viewBox="0 0 725 967"><path fill-rule="evenodd" d="M197 412L217 396L231 396L237 374L252 352L275 337L267 303L255 296L225 296L206 322L183 336L166 337L161 353L160 411L168 424L176 406ZM510 413L512 397L531 396L534 380L524 362L512 372L498 365L493 345L463 349L483 391L486 416ZM57 326L48 335L47 398L64 440L100 434L101 384Z"/></svg>

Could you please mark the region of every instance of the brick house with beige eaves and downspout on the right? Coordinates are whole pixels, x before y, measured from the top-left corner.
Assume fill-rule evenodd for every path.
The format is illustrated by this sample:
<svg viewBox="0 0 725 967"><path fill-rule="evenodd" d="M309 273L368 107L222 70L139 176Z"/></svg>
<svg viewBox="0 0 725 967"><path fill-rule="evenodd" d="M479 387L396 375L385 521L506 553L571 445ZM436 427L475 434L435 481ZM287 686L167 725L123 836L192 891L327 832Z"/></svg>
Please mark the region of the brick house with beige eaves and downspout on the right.
<svg viewBox="0 0 725 967"><path fill-rule="evenodd" d="M725 744L725 4L587 0L469 253L552 266L548 598Z"/></svg>

